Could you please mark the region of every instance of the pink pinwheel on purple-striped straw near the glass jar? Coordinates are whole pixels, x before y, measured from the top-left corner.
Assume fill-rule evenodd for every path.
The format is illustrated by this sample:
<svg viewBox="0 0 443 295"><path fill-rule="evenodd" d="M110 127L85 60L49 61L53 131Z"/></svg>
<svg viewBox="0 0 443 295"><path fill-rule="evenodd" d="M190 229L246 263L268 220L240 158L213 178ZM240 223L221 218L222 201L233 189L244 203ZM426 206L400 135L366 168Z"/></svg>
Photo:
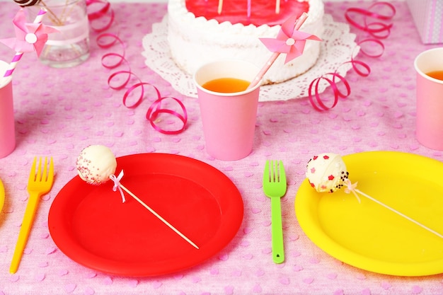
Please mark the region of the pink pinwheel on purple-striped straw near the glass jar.
<svg viewBox="0 0 443 295"><path fill-rule="evenodd" d="M11 47L16 52L35 51L40 56L47 41L47 34L56 33L58 30L43 25L42 23L26 23L23 9L20 9L13 18L13 25L16 31L15 38L1 39L0 42Z"/></svg>

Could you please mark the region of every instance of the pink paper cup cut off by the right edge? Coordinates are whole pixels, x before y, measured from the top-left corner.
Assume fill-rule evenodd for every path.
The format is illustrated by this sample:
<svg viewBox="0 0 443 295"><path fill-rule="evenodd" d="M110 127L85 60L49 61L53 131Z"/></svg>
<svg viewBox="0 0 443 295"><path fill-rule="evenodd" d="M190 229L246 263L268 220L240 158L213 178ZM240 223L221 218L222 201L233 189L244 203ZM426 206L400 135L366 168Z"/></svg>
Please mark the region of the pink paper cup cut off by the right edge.
<svg viewBox="0 0 443 295"><path fill-rule="evenodd" d="M415 58L417 117L415 136L423 146L443 150L443 81L427 76L443 71L443 47L422 52Z"/></svg>

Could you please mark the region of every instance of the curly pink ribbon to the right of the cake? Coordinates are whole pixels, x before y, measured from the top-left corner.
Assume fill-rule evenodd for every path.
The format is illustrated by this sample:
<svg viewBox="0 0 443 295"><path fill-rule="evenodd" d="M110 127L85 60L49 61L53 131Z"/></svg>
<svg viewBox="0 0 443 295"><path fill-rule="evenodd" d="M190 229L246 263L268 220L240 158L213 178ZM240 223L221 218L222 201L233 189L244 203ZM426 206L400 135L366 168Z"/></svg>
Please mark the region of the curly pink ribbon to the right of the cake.
<svg viewBox="0 0 443 295"><path fill-rule="evenodd" d="M381 10L387 10L389 11L386 14L381 13L374 13L370 11L370 9L375 8L376 6L381 6ZM352 18L354 14L359 14L363 17L363 24L358 23L355 21L355 18ZM381 22L373 22L368 23L367 18L376 18L381 21L389 21L393 18L393 16L396 13L396 9L392 4L386 3L386 2L377 2L375 4L372 4L372 6L369 7L368 10L362 9L362 8L348 8L345 12L345 18L347 21L354 25L355 27L359 28L360 30L364 30L365 32L369 33L369 35L372 35L373 38L367 38L364 40L361 40L358 42L360 52L367 57L381 57L381 55L384 53L384 44L379 39L384 39L389 36L391 33L392 24L391 23L381 23ZM357 59L354 59L355 54L351 54L351 59L348 62L344 62L340 66L343 66L344 64L351 64L352 69L359 75L359 76L369 76L371 73L371 68L368 64L365 64L364 62L361 62ZM340 68L339 66L339 68ZM319 91L319 86L321 81L326 81L333 92L333 98L330 97L323 98ZM338 83L343 82L343 88L345 88L345 91L340 91L340 88L338 86ZM335 70L333 73L326 73L323 76L320 76L316 79L314 79L310 85L309 85L309 101L311 102L311 105L315 110L323 111L323 110L330 110L331 108L334 108L335 105L337 105L339 98L347 98L350 96L351 88L350 83L345 79L344 76L341 76L338 74L338 69ZM324 96L325 94L323 94Z"/></svg>

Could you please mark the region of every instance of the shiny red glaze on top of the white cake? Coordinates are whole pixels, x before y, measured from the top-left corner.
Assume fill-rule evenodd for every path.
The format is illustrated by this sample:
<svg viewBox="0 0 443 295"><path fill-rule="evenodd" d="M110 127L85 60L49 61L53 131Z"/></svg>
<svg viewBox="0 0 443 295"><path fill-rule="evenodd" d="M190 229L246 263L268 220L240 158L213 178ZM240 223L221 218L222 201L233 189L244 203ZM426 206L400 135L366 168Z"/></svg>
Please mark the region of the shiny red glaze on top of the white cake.
<svg viewBox="0 0 443 295"><path fill-rule="evenodd" d="M251 4L251 16L248 18L248 1L224 0L222 13L217 12L218 0L186 0L186 8L195 17L203 16L207 20L215 19L219 23L229 21L233 25L281 25L289 17L309 11L308 1L282 0L280 13L275 13L275 1L254 0Z"/></svg>

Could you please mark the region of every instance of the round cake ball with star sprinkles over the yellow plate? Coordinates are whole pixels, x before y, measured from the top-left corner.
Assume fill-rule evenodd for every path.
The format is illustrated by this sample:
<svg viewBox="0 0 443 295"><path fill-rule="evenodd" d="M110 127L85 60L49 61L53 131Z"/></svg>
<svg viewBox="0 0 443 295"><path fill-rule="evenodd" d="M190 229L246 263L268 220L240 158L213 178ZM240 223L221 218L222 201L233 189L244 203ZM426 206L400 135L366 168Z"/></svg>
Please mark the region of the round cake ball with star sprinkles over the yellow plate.
<svg viewBox="0 0 443 295"><path fill-rule="evenodd" d="M348 175L342 157L333 153L313 156L306 167L306 178L317 192L335 192Z"/></svg>

